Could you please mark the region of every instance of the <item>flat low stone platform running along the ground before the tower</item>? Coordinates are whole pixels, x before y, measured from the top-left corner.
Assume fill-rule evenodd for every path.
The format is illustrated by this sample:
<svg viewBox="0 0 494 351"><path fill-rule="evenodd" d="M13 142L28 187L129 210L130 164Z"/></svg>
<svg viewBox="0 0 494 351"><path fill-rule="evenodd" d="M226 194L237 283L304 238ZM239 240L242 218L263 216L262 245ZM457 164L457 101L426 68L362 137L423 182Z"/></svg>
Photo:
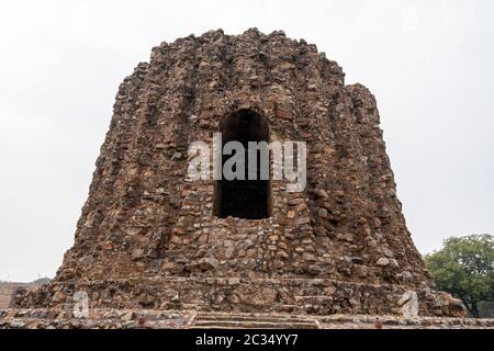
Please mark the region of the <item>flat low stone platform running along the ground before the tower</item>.
<svg viewBox="0 0 494 351"><path fill-rule="evenodd" d="M494 319L149 309L91 309L88 318L63 309L3 309L0 329L374 329L377 318L383 329L494 329Z"/></svg>

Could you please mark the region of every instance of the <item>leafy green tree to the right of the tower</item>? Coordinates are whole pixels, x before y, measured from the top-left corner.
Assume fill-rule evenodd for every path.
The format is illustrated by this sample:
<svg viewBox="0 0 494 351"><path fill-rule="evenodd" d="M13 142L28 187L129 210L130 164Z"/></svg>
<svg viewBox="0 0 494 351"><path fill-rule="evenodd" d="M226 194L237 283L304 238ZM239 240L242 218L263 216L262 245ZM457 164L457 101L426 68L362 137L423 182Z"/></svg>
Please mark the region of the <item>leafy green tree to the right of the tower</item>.
<svg viewBox="0 0 494 351"><path fill-rule="evenodd" d="M424 259L436 287L460 298L473 317L479 303L494 302L494 236L452 237Z"/></svg>

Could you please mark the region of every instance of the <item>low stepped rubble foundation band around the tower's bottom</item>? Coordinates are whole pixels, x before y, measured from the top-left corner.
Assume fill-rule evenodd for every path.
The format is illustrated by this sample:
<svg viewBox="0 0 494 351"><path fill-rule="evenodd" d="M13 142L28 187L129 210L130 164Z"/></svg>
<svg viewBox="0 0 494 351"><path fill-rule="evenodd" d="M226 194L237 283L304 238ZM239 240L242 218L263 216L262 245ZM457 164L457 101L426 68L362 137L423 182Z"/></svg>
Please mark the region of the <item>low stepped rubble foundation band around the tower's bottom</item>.
<svg viewBox="0 0 494 351"><path fill-rule="evenodd" d="M70 306L82 291L90 308L194 309L198 312L271 312L307 315L403 315L402 285L371 285L328 279L167 278L90 283L55 283L25 291L16 306ZM463 316L458 301L429 288L418 292L420 315Z"/></svg>

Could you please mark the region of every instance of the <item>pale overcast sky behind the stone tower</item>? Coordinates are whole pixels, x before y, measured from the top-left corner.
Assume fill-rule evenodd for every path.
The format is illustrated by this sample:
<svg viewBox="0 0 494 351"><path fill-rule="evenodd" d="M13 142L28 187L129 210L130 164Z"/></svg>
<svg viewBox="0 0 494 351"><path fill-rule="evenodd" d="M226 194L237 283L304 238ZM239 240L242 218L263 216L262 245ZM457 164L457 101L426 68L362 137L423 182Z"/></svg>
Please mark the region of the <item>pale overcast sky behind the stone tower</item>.
<svg viewBox="0 0 494 351"><path fill-rule="evenodd" d="M317 44L377 97L422 253L494 234L494 2L1 1L0 280L53 276L74 242L122 79L191 33Z"/></svg>

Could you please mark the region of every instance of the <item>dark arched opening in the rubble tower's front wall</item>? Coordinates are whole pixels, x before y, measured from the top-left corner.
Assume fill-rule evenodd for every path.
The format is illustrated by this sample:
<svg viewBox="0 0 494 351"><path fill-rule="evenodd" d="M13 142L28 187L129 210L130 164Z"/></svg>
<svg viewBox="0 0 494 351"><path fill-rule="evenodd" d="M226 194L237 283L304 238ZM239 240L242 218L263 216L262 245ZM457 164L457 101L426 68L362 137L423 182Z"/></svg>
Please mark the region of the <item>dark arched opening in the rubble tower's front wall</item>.
<svg viewBox="0 0 494 351"><path fill-rule="evenodd" d="M269 143L269 129L266 118L252 110L239 110L221 122L220 132L222 133L222 150L228 141L239 141L244 146L245 179L226 180L225 177L222 177L222 180L216 181L214 203L215 215L221 218L232 216L247 219L269 217L271 212L269 149L260 148L256 151L257 167L255 170L249 170L248 162L249 141ZM225 162L231 157L232 155L222 155L222 172ZM261 167L265 167L266 165L262 163L262 160L266 160L266 158L268 160L268 179L261 177ZM252 163L250 163L250 168L252 168L251 166ZM256 172L256 180L248 179L249 171L251 174Z"/></svg>

